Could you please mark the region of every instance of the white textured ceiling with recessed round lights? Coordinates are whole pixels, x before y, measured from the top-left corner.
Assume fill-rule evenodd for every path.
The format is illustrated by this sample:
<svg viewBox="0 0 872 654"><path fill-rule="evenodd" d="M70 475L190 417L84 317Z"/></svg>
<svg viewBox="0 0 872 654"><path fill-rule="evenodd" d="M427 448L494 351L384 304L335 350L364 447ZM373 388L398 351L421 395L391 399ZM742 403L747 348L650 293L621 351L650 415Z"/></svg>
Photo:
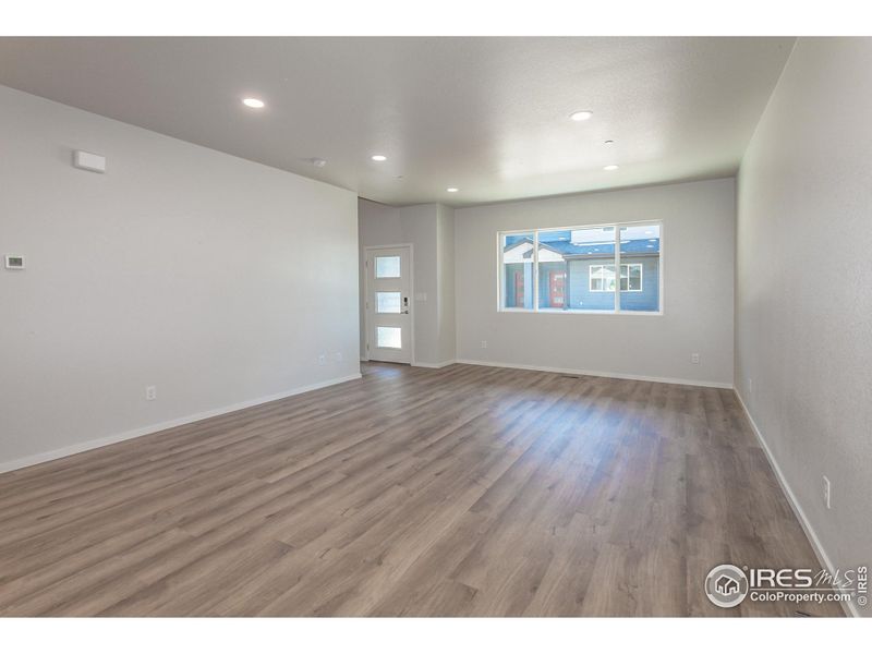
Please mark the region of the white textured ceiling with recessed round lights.
<svg viewBox="0 0 872 654"><path fill-rule="evenodd" d="M463 206L731 174L792 44L0 38L0 84L377 202Z"/></svg>

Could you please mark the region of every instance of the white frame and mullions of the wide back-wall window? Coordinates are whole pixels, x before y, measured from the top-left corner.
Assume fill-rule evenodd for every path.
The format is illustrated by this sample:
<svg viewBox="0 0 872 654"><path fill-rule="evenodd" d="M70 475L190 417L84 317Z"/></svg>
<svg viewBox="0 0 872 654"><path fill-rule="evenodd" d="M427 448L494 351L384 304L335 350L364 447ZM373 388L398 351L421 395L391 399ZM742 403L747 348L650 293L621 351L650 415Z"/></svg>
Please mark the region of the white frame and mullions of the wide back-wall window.
<svg viewBox="0 0 872 654"><path fill-rule="evenodd" d="M621 310L620 307L620 295L621 293L641 293L644 289L644 264L642 263L633 263L627 264L628 266L640 266L640 289L639 290L629 290L629 269L627 276L627 291L620 290L620 276L617 276L615 279L615 290L614 291L605 291L605 292L614 292L615 293L615 308L552 308L552 307L540 307L538 306L538 239L540 232L542 231L572 231L572 230L584 230L584 229L603 229L603 228L614 228L615 232L615 256L614 256L614 264L589 264L593 266L598 265L614 265L615 269L622 269L621 262L620 262L620 230L623 227L634 227L634 226L646 226L646 225L655 225L659 229L659 249L658 249L658 259L657 259L657 284L658 284L658 308L657 311L633 311L633 310ZM518 306L504 306L504 294L506 289L506 266L502 263L502 254L504 254L504 242L506 237L510 235L518 235L524 234L533 237L533 275L532 275L532 283L533 283L533 307L532 308L524 308ZM499 313L549 313L549 314L562 314L562 315L585 315L585 314L607 314L607 315L633 315L633 316L662 316L664 315L664 261L665 261L665 247L664 247L664 227L663 222L659 220L635 220L632 222L605 222L605 223L596 223L596 225L573 225L569 227L542 227L542 228L534 228L534 229L516 229L516 230L506 230L499 231L496 234L497 237L497 312ZM589 289L590 289L590 268L589 268ZM603 291L593 291L593 292L603 292ZM567 299L568 300L568 299Z"/></svg>

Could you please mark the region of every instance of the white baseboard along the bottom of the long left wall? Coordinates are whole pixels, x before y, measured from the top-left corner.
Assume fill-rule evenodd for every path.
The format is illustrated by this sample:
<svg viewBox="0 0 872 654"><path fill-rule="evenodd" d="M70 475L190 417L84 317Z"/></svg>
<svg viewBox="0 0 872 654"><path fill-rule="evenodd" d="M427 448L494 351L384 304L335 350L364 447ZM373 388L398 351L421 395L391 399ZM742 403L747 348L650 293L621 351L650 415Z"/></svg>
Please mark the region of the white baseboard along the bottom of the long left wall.
<svg viewBox="0 0 872 654"><path fill-rule="evenodd" d="M131 438L138 438L140 436L145 436L147 434L154 434L156 432L162 432L164 429L171 429L172 427L179 427L181 425L186 425L189 423L197 422L201 420L206 420L207 417L215 417L217 415L222 415L225 413L231 413L233 411L239 411L240 409L249 409L250 407L256 407L257 404L265 404L266 402L272 402L275 400L281 400L284 398L289 398L291 396L300 395L303 392L308 392L310 390L317 390L319 388L326 388L327 386L334 386L336 384L342 384L343 382L352 382L354 379L360 379L361 374L356 373L354 375L348 375L346 377L337 377L335 379L327 379L326 382L318 382L317 384L310 384L307 386L299 386L296 388L292 388L290 390L284 390L282 392L277 392L275 395L265 396L262 398L257 398L254 400L245 400L244 402L238 402L235 404L230 404L228 407L221 407L219 409L210 409L208 411L202 411L199 413L193 413L191 415L185 415L184 417L177 417L174 420L169 420L162 423L147 425L145 427L137 427L135 429L130 429L128 432L122 432L121 434L114 434L112 436L105 436L102 438L95 438L93 440L86 440L84 443L77 443L75 445L71 445L68 447L62 447L60 449L50 450L47 452L39 452L38 455L32 455L29 457L23 457L21 459L14 459L12 461L0 461L0 473L2 472L10 472L12 470L20 470L22 468L27 468L29 465L36 465L37 463L45 463L46 461L52 461L55 459L61 459L63 457L69 457L71 455L77 455L80 452L84 452L90 449L96 449L98 447L104 447L107 445L112 445L113 443L121 443L122 440L129 440Z"/></svg>

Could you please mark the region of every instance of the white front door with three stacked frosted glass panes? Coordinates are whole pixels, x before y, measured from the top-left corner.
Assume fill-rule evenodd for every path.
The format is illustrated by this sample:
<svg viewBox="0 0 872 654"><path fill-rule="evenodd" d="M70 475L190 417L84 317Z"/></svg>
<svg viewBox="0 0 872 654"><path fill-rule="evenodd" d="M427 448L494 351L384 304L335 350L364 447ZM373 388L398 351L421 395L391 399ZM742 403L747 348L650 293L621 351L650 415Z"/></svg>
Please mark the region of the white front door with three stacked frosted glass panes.
<svg viewBox="0 0 872 654"><path fill-rule="evenodd" d="M411 251L366 251L366 354L372 361L412 362Z"/></svg>

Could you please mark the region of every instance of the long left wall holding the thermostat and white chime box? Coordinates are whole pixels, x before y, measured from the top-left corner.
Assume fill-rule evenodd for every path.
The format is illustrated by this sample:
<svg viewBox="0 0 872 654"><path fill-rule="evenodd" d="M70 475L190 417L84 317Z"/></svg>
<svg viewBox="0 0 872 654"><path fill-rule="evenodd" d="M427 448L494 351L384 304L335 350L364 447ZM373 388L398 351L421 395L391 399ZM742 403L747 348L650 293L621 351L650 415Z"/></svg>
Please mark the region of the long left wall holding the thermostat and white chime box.
<svg viewBox="0 0 872 654"><path fill-rule="evenodd" d="M359 374L353 193L5 87L0 117L0 469Z"/></svg>

